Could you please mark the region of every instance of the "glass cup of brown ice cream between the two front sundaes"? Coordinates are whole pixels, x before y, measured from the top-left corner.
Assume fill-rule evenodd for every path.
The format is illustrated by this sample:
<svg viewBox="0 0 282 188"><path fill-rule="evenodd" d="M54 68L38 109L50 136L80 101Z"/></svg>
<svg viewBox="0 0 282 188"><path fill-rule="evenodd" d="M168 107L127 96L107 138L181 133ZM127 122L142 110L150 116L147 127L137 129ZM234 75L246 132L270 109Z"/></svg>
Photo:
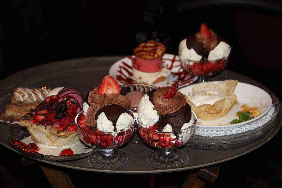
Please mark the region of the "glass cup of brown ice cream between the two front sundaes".
<svg viewBox="0 0 282 188"><path fill-rule="evenodd" d="M136 118L137 118L138 102L140 101L141 97L143 97L144 94L148 93L149 91L152 91L153 89L156 89L156 87L147 85L147 84L126 84L126 85L121 86L120 95L125 95L130 99L131 101L130 110L133 111ZM130 93L132 93L132 95L130 95ZM133 101L135 102L133 103ZM137 133L137 125L134 125L133 136L129 139L128 142L129 143L143 143L143 141L140 139Z"/></svg>

